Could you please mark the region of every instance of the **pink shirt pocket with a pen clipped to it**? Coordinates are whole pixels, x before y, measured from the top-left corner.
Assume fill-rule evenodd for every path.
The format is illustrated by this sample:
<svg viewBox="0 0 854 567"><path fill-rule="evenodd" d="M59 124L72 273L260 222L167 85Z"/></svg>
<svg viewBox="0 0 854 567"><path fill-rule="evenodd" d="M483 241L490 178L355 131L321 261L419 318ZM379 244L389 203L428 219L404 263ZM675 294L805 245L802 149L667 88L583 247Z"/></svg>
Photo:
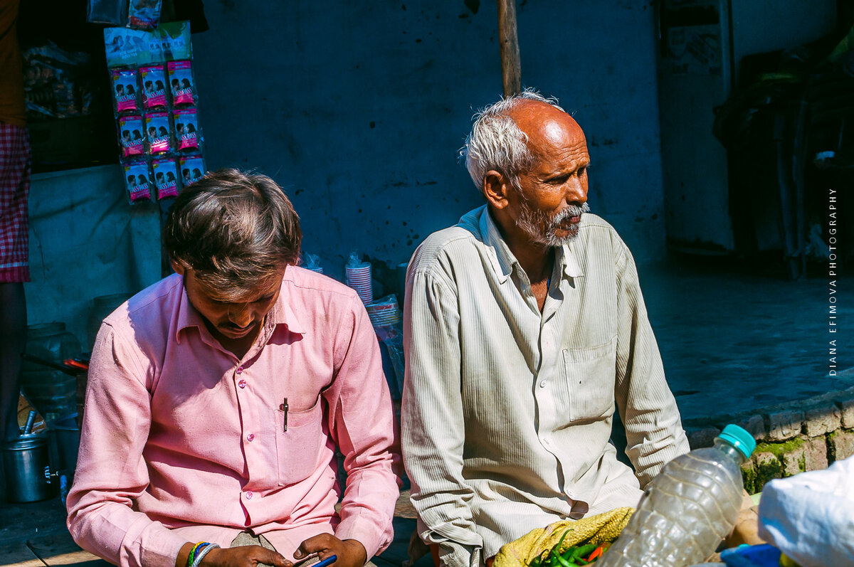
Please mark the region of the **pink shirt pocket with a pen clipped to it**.
<svg viewBox="0 0 854 567"><path fill-rule="evenodd" d="M323 404L321 398L311 409L287 412L288 430L284 430L285 412L276 415L276 463L278 485L290 486L304 481L317 470L320 449L324 447Z"/></svg>

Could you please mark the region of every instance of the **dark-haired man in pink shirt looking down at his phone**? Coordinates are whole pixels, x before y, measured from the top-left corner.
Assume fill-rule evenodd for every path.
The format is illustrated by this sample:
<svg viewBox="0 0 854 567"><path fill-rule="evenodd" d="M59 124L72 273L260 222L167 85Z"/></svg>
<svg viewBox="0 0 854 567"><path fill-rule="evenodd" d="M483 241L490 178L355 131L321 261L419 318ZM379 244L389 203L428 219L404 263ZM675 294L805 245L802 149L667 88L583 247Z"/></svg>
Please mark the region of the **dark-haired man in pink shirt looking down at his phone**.
<svg viewBox="0 0 854 567"><path fill-rule="evenodd" d="M177 273L104 319L92 353L67 500L81 547L146 567L360 567L389 545L400 456L377 339L354 290L295 266L300 241L263 175L219 170L178 196Z"/></svg>

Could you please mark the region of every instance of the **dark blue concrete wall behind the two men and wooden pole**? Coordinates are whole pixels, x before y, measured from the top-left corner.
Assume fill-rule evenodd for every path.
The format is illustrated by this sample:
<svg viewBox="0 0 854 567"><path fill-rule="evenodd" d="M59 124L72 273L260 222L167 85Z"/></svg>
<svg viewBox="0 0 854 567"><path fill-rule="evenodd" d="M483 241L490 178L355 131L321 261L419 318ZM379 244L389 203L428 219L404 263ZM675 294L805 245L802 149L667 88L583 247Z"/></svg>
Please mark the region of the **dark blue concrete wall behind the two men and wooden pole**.
<svg viewBox="0 0 854 567"><path fill-rule="evenodd" d="M590 204L639 260L664 253L652 6L518 3L524 85L588 134ZM193 37L208 167L283 184L304 248L395 266L481 204L456 150L500 96L494 2L205 3Z"/></svg>

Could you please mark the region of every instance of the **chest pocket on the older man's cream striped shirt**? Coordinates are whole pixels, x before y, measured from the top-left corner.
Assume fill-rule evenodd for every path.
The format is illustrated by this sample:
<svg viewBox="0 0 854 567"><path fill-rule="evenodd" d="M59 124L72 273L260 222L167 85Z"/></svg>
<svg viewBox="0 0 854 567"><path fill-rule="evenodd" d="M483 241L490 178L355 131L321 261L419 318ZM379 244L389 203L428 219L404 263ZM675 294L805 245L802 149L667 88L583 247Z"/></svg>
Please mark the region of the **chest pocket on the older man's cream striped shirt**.
<svg viewBox="0 0 854 567"><path fill-rule="evenodd" d="M617 337L596 347L564 348L570 421L597 421L614 412Z"/></svg>

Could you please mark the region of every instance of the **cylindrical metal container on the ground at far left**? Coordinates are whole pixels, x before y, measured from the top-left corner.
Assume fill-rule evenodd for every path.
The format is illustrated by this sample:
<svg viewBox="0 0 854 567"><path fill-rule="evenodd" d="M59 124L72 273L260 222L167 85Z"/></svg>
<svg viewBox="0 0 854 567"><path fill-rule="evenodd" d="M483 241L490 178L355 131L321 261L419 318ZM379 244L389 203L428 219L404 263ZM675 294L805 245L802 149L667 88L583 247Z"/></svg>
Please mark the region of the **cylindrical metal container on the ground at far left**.
<svg viewBox="0 0 854 567"><path fill-rule="evenodd" d="M58 492L59 483L50 476L48 441L44 435L20 435L15 441L5 443L3 470L9 502L38 502Z"/></svg>

